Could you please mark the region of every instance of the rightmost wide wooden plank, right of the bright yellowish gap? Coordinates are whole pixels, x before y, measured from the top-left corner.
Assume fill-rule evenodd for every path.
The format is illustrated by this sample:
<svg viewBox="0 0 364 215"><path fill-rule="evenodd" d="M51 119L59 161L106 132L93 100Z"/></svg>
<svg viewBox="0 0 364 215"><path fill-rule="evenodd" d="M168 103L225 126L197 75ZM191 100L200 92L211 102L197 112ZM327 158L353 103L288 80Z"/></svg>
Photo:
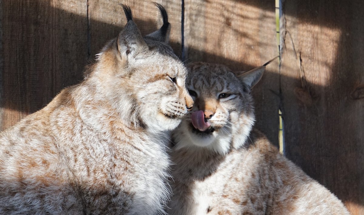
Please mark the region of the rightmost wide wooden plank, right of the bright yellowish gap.
<svg viewBox="0 0 364 215"><path fill-rule="evenodd" d="M286 156L364 214L364 2L285 1Z"/></svg>

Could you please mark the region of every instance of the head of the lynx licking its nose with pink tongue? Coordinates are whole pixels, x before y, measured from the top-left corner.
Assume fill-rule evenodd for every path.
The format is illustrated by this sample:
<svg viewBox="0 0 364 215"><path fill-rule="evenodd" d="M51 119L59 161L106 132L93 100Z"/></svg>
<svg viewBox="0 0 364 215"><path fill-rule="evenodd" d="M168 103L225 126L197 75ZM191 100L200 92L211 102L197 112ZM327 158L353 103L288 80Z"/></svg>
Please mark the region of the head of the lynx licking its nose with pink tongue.
<svg viewBox="0 0 364 215"><path fill-rule="evenodd" d="M189 68L187 89L195 103L173 133L176 149L205 147L225 154L241 147L255 121L250 91L265 66L236 75L219 64L197 62Z"/></svg>

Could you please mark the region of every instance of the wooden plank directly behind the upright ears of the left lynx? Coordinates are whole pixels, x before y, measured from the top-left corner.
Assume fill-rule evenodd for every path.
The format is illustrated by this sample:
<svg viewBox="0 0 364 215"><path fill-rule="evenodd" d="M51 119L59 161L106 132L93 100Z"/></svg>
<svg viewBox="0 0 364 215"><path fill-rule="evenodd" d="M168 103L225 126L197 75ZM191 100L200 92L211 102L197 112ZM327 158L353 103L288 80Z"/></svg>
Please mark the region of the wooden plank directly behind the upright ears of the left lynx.
<svg viewBox="0 0 364 215"><path fill-rule="evenodd" d="M181 1L158 0L155 2L166 8L171 24L170 45L179 56L181 54ZM130 6L133 19L143 36L162 26L160 12L151 1L127 0L122 3ZM100 52L108 40L117 37L126 24L124 11L119 4L119 0L88 0L91 59Z"/></svg>

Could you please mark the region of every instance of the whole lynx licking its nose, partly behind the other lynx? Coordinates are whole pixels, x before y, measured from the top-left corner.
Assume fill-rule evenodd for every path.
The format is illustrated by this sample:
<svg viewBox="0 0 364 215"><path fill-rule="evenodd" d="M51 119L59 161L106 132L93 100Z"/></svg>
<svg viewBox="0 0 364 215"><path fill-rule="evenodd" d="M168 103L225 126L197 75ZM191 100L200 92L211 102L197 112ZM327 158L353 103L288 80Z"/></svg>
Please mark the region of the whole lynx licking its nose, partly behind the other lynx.
<svg viewBox="0 0 364 215"><path fill-rule="evenodd" d="M349 214L343 203L253 129L250 91L265 66L193 63L193 111L173 132L171 215Z"/></svg>

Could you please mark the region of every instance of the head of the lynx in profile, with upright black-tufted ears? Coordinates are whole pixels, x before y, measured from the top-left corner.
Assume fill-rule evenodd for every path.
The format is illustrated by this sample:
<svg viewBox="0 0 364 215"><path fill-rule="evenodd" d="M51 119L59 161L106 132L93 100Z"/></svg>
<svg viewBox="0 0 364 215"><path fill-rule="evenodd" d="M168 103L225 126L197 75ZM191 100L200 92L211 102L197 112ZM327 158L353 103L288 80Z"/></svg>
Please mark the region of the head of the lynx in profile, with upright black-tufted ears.
<svg viewBox="0 0 364 215"><path fill-rule="evenodd" d="M131 9L122 5L127 24L98 54L88 77L124 123L152 132L174 129L193 106L185 86L187 69L167 44L167 13L155 5L163 26L144 38Z"/></svg>

